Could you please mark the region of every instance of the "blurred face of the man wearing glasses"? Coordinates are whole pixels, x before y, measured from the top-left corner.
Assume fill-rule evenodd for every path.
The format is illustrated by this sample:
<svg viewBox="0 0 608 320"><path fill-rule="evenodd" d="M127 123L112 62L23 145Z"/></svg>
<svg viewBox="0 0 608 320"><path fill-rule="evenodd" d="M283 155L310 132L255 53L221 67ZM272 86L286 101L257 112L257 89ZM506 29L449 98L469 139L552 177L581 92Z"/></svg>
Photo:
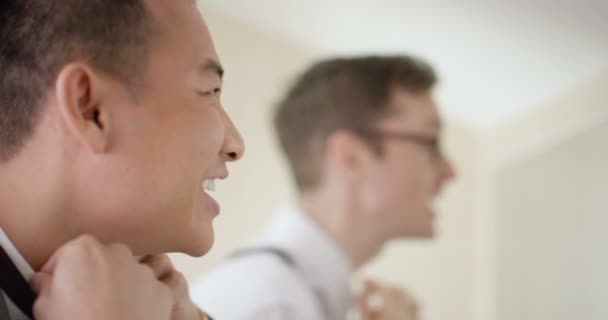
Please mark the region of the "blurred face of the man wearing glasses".
<svg viewBox="0 0 608 320"><path fill-rule="evenodd" d="M438 139L439 117L428 93L395 89L394 113L377 125L380 131ZM366 206L388 238L432 237L433 200L453 177L450 163L432 145L384 139L364 192Z"/></svg>

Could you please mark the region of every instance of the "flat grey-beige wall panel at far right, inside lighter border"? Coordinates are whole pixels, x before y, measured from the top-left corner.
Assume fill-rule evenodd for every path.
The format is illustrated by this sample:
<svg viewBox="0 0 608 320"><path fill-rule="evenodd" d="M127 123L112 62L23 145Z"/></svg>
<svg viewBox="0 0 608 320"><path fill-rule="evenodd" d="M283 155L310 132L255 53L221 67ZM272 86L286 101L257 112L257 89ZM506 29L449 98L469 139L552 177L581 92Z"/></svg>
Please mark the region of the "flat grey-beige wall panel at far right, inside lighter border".
<svg viewBox="0 0 608 320"><path fill-rule="evenodd" d="M497 319L608 319L608 121L498 172Z"/></svg>

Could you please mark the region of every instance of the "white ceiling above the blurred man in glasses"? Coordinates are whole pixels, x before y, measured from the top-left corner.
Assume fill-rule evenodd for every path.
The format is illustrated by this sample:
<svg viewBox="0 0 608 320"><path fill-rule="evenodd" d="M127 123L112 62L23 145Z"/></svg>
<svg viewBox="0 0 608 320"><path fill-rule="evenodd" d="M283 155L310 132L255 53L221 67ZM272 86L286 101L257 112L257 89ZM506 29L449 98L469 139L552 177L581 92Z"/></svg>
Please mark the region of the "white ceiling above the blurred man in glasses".
<svg viewBox="0 0 608 320"><path fill-rule="evenodd" d="M607 0L206 0L202 6L316 56L421 56L440 74L442 111L477 130L500 126L608 70Z"/></svg>

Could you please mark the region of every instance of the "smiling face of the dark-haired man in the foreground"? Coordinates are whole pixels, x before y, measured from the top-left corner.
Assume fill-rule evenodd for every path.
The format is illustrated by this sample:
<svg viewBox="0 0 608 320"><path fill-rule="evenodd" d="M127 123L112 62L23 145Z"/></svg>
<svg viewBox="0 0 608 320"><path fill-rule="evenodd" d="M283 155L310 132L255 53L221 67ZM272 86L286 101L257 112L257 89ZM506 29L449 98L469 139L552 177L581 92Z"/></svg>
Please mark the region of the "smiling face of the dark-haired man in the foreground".
<svg viewBox="0 0 608 320"><path fill-rule="evenodd" d="M222 69L191 1L149 1L155 21L142 91L121 114L123 173L104 190L110 238L136 254L206 253L220 208L208 191L243 142L220 102ZM105 204L104 204L105 206Z"/></svg>

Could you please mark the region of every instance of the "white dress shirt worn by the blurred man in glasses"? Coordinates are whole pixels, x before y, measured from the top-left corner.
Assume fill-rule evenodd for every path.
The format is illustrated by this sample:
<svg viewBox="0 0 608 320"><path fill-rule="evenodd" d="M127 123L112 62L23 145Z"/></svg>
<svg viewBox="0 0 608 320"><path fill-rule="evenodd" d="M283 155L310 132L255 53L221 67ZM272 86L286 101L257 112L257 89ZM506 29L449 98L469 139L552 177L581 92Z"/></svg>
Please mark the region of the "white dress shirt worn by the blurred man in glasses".
<svg viewBox="0 0 608 320"><path fill-rule="evenodd" d="M192 287L192 299L215 319L342 320L351 304L353 265L318 225L279 211L253 248L276 248L295 262L252 252L228 258Z"/></svg>

